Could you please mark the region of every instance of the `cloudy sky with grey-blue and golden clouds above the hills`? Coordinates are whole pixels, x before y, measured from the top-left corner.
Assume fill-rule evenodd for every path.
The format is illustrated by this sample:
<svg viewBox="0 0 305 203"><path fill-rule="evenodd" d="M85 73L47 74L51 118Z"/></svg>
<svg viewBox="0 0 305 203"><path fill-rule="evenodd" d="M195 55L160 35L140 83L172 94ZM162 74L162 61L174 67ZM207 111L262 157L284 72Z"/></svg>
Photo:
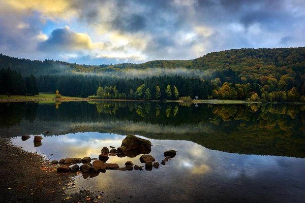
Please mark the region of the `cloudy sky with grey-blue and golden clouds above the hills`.
<svg viewBox="0 0 305 203"><path fill-rule="evenodd" d="M79 64L305 46L305 0L0 0L0 52Z"/></svg>

